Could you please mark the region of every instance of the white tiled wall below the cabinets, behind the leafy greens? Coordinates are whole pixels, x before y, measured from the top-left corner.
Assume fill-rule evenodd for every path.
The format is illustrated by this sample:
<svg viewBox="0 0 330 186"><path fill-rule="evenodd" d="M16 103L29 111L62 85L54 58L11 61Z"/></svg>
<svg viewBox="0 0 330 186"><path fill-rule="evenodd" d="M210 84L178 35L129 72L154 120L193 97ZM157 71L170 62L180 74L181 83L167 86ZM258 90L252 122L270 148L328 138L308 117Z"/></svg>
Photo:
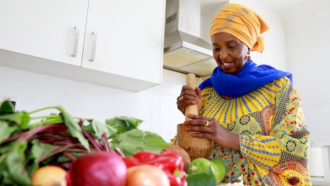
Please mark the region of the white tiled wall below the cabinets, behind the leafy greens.
<svg viewBox="0 0 330 186"><path fill-rule="evenodd" d="M201 79L196 79L197 84ZM74 116L105 121L126 115L144 120L142 130L152 131L166 141L184 121L176 98L186 83L186 75L163 70L163 84L141 92L131 92L43 74L0 67L0 96L19 99L17 109L32 111L62 105ZM50 110L46 112L55 112Z"/></svg>

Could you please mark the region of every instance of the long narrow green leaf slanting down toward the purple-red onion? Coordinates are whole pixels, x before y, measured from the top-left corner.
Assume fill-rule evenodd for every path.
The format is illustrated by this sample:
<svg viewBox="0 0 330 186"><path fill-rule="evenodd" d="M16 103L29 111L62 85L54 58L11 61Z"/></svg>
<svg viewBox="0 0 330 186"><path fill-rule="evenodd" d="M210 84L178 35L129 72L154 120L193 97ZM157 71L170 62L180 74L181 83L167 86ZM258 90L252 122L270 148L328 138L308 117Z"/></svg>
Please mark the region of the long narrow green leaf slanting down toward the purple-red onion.
<svg viewBox="0 0 330 186"><path fill-rule="evenodd" d="M64 123L65 123L65 126L68 127L71 135L73 137L76 137L78 138L79 142L88 150L90 151L89 149L89 144L88 144L88 141L86 140L86 138L84 137L84 135L82 134L81 132L81 128L80 126L78 125L77 121L74 120L74 118L67 112L63 109L63 107L61 106L58 106L56 107L59 111L61 111L60 115L62 116L63 120L64 120Z"/></svg>

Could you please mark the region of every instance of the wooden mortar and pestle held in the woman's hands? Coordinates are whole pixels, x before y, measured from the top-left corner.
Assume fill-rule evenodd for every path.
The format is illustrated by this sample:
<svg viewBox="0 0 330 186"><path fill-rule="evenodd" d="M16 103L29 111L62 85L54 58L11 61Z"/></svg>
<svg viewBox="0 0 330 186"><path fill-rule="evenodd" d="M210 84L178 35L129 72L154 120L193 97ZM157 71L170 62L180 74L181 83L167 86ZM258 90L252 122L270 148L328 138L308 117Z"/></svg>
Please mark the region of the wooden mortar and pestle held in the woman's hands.
<svg viewBox="0 0 330 186"><path fill-rule="evenodd" d="M187 75L187 85L195 89L195 75L189 73ZM191 120L187 114L198 115L198 105L188 105L185 110L186 121ZM179 124L177 126L177 144L183 148L189 155L191 161L196 158L208 158L211 149L211 141L202 138L193 138L191 134L194 132L186 132L185 126Z"/></svg>

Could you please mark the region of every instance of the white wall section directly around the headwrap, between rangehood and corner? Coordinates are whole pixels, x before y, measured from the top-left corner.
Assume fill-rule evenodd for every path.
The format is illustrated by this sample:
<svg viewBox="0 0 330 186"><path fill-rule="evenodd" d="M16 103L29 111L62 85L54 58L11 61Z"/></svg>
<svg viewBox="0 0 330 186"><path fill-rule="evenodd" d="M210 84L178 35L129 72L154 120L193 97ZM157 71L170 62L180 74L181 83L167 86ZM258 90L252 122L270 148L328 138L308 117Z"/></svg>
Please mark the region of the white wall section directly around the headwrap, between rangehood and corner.
<svg viewBox="0 0 330 186"><path fill-rule="evenodd" d="M259 52L252 52L252 60L258 64L271 65L277 69L286 71L286 53L285 53L285 36L284 27L281 19L277 13L265 6L256 3L253 0L229 0L228 2L221 2L215 4L212 9L208 11L203 11L203 29L202 38L211 43L209 32L213 17L228 3L236 3L244 5L254 12L256 12L260 17L262 17L266 22L270 24L270 29L262 34L261 36L265 39L265 49L262 54Z"/></svg>

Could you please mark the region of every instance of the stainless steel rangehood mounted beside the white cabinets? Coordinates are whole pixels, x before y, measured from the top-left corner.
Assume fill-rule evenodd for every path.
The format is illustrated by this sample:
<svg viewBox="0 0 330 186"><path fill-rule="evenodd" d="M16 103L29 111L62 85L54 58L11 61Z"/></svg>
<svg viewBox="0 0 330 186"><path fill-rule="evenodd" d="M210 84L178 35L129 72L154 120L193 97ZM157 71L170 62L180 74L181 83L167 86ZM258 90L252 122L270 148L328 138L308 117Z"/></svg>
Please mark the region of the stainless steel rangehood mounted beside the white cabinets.
<svg viewBox="0 0 330 186"><path fill-rule="evenodd" d="M167 0L163 68L203 77L217 66L200 38L201 0Z"/></svg>

